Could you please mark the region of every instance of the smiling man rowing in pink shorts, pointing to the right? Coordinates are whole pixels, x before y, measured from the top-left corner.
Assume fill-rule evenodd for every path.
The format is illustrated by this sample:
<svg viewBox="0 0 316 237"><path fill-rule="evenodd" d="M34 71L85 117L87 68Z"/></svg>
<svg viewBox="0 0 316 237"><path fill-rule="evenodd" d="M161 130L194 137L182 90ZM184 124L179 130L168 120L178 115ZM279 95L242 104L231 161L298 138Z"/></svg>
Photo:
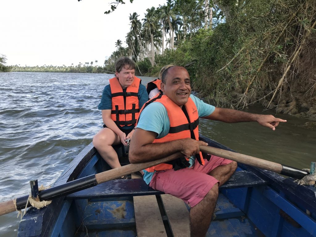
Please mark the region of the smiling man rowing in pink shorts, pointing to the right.
<svg viewBox="0 0 316 237"><path fill-rule="evenodd" d="M279 122L272 115L251 114L217 108L191 95L190 76L173 66L161 76L163 95L142 108L131 141L131 163L153 161L180 152L183 157L146 169L150 187L181 198L191 206L191 236L205 236L214 212L218 188L237 168L237 163L214 155L202 156L199 146L199 118L235 123L257 121L275 130ZM150 210L149 210L150 211Z"/></svg>

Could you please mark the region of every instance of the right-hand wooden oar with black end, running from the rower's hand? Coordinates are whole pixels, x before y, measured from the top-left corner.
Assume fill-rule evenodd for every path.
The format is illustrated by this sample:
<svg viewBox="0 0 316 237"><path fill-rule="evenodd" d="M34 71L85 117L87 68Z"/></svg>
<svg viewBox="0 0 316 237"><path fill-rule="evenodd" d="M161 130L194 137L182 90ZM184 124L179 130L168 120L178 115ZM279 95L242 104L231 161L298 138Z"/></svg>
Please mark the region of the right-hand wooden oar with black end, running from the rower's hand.
<svg viewBox="0 0 316 237"><path fill-rule="evenodd" d="M200 151L203 151L205 153L211 154L211 155L216 155L219 157L226 158L228 160L236 161L239 163L243 163L246 165L251 165L254 167L258 167L261 169L266 169L270 170L279 174L283 174L289 177L293 177L296 179L302 179L304 176L308 175L309 172L301 169L297 169L294 167L278 164L272 161L266 161L263 159L259 159L257 157L253 157L250 155L244 155L232 151L227 151L215 147L210 147L210 146L200 146Z"/></svg>

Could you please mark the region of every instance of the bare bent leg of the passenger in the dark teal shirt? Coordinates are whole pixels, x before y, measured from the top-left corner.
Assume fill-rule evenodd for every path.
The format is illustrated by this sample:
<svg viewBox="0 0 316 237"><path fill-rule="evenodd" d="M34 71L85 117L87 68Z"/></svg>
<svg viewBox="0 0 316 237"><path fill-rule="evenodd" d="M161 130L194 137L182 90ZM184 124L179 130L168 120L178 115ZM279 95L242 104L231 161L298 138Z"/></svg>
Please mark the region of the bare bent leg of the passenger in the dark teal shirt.
<svg viewBox="0 0 316 237"><path fill-rule="evenodd" d="M93 137L93 145L100 153L101 157L111 168L121 167L118 155L112 145L121 142L119 136L109 128L103 128Z"/></svg>

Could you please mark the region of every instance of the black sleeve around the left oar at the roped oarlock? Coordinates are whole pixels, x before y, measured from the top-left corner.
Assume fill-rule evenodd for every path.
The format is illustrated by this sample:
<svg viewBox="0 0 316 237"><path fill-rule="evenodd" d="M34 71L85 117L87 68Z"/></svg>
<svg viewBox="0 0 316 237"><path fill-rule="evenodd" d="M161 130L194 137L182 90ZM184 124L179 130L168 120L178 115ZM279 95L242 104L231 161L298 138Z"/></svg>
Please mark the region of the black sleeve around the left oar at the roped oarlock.
<svg viewBox="0 0 316 237"><path fill-rule="evenodd" d="M81 191L98 183L95 179L95 175L89 175L87 177L76 179L62 185L57 185L39 192L40 201L49 201L57 197L63 197L70 193ZM22 210L27 204L28 195L16 198L16 210Z"/></svg>

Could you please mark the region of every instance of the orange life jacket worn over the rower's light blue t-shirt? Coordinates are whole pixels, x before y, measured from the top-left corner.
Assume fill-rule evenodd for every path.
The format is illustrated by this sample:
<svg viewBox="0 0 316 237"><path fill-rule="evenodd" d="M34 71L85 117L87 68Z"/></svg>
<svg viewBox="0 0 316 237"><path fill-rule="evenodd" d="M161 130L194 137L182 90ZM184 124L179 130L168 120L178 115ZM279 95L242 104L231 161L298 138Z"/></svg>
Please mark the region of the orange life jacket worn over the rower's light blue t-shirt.
<svg viewBox="0 0 316 237"><path fill-rule="evenodd" d="M165 106L165 108L167 109L168 117L170 120L169 133L165 137L156 138L153 141L153 143L170 142L170 141L174 141L174 140L178 140L182 138L188 138L188 137L191 137L192 139L195 139L198 141L199 118L198 118L197 107L191 98L189 98L187 103L183 105L181 108L177 104L173 103L173 101L170 100L169 97L167 97L166 95L160 94L159 96L145 103L141 112L147 105L149 105L152 102L160 102L161 104L163 104L163 106ZM199 154L196 154L196 158L197 158L197 161L201 165L204 165L204 160L202 158L201 152ZM183 162L183 160L187 162L186 167L188 167L189 159L178 158L168 163L162 163L162 164L147 168L146 170L149 172L154 172L155 170L172 169L172 168L175 168L175 164L178 164L177 162ZM183 168L183 167L180 167L180 168Z"/></svg>

